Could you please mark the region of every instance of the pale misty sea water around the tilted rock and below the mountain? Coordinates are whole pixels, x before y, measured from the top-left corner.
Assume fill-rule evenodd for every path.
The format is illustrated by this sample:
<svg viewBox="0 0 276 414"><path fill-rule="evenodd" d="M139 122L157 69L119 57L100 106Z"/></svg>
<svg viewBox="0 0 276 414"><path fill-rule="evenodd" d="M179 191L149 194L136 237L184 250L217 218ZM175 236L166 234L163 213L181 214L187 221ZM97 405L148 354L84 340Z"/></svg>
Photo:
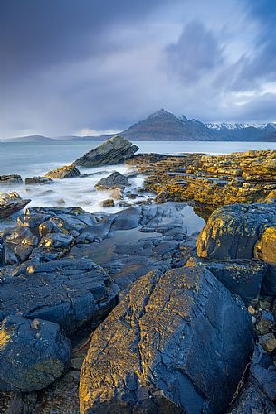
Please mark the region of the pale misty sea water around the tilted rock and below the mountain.
<svg viewBox="0 0 276 414"><path fill-rule="evenodd" d="M204 152L226 154L249 149L276 149L276 143L265 142L135 142L140 152L181 153ZM70 164L85 152L97 147L95 142L0 143L0 174L20 174L22 178L43 175L53 168ZM114 165L81 169L97 173L88 178L55 180L48 185L2 185L0 192L17 191L21 197L30 198L28 207L82 207L86 211L99 211L100 201L110 197L107 191L96 191L94 184L112 171L129 172L127 166ZM131 178L131 187L142 185L143 177ZM130 188L131 189L131 188ZM190 208L190 207L188 207ZM116 211L118 207L105 211Z"/></svg>

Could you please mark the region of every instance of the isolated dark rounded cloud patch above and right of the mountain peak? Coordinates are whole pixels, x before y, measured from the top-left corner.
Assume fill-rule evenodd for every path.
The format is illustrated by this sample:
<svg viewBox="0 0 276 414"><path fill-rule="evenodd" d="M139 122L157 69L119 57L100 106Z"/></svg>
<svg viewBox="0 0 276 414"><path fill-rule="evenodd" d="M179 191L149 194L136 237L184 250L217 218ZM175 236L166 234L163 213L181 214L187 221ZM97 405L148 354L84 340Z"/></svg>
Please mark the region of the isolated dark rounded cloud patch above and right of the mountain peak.
<svg viewBox="0 0 276 414"><path fill-rule="evenodd" d="M223 63L218 39L200 22L186 24L178 41L166 49L167 63L181 81L195 82Z"/></svg>

